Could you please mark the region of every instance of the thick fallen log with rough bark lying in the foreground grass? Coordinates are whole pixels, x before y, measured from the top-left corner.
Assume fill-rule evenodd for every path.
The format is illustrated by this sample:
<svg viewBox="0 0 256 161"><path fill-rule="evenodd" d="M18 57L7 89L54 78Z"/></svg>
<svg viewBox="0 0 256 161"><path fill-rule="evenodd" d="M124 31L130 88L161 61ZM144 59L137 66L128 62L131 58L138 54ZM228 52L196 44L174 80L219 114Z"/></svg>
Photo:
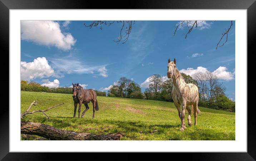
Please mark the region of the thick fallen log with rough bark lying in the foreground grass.
<svg viewBox="0 0 256 161"><path fill-rule="evenodd" d="M60 130L37 122L21 121L21 134L38 135L50 140L120 140L121 134L95 135Z"/></svg>

